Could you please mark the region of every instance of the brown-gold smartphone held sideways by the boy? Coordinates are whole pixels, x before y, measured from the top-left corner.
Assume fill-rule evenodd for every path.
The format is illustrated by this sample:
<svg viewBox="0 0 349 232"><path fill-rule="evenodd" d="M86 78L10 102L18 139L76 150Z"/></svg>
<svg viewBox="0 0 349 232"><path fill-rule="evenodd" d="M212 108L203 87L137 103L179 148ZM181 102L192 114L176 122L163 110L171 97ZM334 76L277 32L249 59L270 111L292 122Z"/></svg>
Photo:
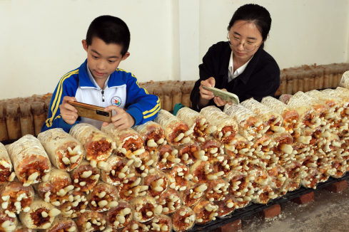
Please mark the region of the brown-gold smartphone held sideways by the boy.
<svg viewBox="0 0 349 232"><path fill-rule="evenodd" d="M111 110L104 111L104 107L72 101L68 101L68 104L73 105L81 117L88 117L102 122L111 122Z"/></svg>

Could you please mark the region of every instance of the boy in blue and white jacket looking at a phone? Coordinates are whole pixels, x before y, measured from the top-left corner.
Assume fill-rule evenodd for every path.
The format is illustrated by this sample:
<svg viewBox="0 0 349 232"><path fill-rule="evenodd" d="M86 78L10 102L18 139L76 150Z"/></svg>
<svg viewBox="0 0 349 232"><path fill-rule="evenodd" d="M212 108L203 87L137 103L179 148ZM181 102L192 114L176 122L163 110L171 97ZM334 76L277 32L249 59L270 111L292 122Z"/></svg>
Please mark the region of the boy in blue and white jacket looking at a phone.
<svg viewBox="0 0 349 232"><path fill-rule="evenodd" d="M119 130L153 120L160 110L160 100L139 88L132 73L119 69L126 60L130 44L130 31L125 22L113 16L99 16L88 27L82 41L87 60L64 75L54 91L48 119L41 132L61 127L69 132L76 123L86 122L98 129L108 122L79 117L77 110L67 101L84 102L113 110L111 120ZM123 110L123 108L127 110Z"/></svg>

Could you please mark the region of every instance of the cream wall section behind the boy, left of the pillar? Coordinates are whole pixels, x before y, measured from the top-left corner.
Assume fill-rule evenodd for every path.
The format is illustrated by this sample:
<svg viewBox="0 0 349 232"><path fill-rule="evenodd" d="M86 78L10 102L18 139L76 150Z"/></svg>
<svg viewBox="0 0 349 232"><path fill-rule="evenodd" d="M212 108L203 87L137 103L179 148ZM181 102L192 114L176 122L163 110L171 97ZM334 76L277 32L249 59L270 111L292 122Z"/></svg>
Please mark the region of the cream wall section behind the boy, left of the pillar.
<svg viewBox="0 0 349 232"><path fill-rule="evenodd" d="M0 99L53 92L86 59L81 40L97 16L118 16L131 31L119 68L141 80L171 75L169 0L0 0Z"/></svg>

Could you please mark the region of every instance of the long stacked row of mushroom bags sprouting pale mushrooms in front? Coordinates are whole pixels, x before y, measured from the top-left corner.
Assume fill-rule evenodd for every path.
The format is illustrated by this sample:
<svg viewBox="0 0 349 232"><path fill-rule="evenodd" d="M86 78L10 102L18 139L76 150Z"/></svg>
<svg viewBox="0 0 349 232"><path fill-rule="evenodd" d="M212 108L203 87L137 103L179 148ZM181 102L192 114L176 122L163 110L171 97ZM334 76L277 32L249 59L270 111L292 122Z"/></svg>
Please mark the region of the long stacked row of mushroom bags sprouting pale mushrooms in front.
<svg viewBox="0 0 349 232"><path fill-rule="evenodd" d="M348 105L347 88L311 90L0 144L0 231L188 231L315 189L349 170Z"/></svg>

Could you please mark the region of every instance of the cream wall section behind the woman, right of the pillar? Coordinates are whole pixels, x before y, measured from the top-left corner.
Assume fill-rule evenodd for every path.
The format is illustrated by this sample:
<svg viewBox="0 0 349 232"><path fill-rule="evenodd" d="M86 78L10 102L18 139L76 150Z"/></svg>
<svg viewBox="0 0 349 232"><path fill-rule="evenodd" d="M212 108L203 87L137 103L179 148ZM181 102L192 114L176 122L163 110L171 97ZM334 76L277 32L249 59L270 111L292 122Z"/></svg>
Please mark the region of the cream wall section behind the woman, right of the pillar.
<svg viewBox="0 0 349 232"><path fill-rule="evenodd" d="M200 57L218 41L227 41L234 11L247 1L200 1ZM264 49L280 68L348 61L348 0L258 0L272 23Z"/></svg>

